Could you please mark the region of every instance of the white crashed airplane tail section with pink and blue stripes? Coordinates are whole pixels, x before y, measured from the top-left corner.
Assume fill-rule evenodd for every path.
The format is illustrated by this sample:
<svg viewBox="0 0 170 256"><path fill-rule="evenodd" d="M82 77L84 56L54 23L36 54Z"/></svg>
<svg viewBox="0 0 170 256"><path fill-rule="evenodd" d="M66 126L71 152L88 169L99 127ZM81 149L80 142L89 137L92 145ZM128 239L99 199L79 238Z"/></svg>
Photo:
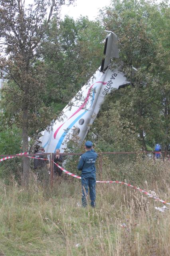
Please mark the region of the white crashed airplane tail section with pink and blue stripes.
<svg viewBox="0 0 170 256"><path fill-rule="evenodd" d="M62 153L67 149L67 142L74 134L79 137L81 144L89 125L99 112L105 95L113 89L130 84L118 68L112 70L110 67L111 58L119 58L119 50L117 36L113 32L107 32L109 34L105 42L105 59L102 60L101 67L63 109L62 117L53 123L51 129L42 132L38 145L44 147L46 153L53 153L56 149L60 149Z"/></svg>

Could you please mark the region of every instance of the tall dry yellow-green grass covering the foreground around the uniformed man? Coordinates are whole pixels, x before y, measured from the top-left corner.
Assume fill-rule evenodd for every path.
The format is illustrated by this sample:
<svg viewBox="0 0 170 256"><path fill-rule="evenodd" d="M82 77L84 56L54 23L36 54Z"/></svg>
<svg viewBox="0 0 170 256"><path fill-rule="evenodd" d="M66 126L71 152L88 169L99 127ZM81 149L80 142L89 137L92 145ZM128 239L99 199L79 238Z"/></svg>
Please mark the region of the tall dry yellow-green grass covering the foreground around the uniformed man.
<svg viewBox="0 0 170 256"><path fill-rule="evenodd" d="M170 202L167 162L139 159L119 166L120 172L109 163L103 175L116 180L123 170L132 185L139 182ZM81 184L73 177L56 180L53 189L34 178L28 190L14 180L8 186L1 182L0 255L170 254L170 210L156 210L160 202L119 184L97 184L95 209L81 208L80 202Z"/></svg>

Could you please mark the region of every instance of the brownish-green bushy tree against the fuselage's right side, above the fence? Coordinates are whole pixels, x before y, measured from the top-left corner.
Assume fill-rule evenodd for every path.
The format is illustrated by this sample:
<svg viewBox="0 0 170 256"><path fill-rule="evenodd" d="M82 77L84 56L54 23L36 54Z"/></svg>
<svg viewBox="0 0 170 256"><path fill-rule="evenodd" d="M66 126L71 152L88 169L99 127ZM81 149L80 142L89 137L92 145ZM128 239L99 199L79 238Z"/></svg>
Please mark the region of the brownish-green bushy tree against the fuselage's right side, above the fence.
<svg viewBox="0 0 170 256"><path fill-rule="evenodd" d="M123 89L121 89L123 91ZM89 133L90 139L97 143L101 151L134 151L139 150L138 133L128 119L121 118L121 102L106 97L101 107L100 114L95 120ZM95 134L95 138L93 139Z"/></svg>

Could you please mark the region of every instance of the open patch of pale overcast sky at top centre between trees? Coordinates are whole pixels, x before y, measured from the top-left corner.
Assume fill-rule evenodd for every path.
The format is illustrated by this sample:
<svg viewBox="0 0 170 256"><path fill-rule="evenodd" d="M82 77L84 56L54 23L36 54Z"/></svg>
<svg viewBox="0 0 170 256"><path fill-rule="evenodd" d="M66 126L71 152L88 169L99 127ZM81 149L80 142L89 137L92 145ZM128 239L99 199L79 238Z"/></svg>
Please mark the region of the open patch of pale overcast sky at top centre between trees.
<svg viewBox="0 0 170 256"><path fill-rule="evenodd" d="M66 14L74 19L80 15L88 16L89 20L94 20L98 16L99 10L110 5L111 0L76 0L74 6L63 6L61 8L61 18Z"/></svg>

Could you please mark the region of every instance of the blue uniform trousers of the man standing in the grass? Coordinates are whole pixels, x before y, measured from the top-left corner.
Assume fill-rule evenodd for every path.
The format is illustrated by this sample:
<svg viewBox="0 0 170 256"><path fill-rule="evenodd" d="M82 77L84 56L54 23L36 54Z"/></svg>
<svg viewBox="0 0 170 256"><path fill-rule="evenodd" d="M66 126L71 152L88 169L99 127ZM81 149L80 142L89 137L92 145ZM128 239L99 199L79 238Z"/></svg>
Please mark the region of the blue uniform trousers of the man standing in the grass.
<svg viewBox="0 0 170 256"><path fill-rule="evenodd" d="M82 206L87 206L88 188L91 200L91 206L95 207L96 200L96 173L81 174L82 187Z"/></svg>

